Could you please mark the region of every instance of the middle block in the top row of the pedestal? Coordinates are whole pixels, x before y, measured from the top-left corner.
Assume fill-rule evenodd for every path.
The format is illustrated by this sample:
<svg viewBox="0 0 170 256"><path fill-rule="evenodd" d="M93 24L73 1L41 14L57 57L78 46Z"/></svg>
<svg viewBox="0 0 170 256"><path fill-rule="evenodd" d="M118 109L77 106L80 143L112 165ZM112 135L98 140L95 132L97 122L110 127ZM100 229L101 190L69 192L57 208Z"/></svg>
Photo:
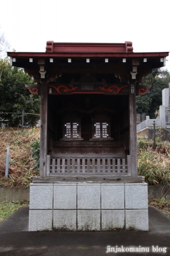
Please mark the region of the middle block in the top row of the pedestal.
<svg viewBox="0 0 170 256"><path fill-rule="evenodd" d="M78 209L101 209L100 184L78 184Z"/></svg>

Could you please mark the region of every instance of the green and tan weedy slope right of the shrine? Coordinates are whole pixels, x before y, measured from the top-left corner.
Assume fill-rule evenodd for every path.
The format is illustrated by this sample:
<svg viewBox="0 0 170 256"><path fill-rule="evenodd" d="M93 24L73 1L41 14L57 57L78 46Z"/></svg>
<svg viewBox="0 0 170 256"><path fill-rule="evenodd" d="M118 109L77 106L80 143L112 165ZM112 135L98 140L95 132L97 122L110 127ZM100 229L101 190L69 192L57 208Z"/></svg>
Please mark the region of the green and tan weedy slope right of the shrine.
<svg viewBox="0 0 170 256"><path fill-rule="evenodd" d="M138 175L145 177L150 185L168 184L170 182L170 143L157 141L153 150L153 141L139 139L138 145Z"/></svg>

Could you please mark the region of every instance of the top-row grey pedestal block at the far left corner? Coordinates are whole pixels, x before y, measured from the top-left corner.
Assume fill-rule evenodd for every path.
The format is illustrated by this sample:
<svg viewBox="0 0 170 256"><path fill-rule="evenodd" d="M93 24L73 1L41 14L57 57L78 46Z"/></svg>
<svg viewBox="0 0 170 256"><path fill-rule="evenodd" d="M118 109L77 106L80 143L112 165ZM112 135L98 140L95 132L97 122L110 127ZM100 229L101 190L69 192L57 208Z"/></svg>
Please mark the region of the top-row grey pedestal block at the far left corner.
<svg viewBox="0 0 170 256"><path fill-rule="evenodd" d="M29 209L52 209L52 202L52 184L31 184Z"/></svg>

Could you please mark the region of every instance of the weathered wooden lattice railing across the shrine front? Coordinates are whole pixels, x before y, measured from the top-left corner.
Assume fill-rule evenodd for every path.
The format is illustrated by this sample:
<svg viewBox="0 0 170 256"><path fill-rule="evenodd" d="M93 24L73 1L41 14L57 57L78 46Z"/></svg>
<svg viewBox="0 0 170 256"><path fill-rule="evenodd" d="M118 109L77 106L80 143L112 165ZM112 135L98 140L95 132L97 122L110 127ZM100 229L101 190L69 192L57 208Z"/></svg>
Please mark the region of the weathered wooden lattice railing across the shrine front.
<svg viewBox="0 0 170 256"><path fill-rule="evenodd" d="M46 175L53 176L62 173L71 174L99 174L113 173L113 175L130 175L130 156L125 158L97 158L97 157L67 157L57 158L47 156Z"/></svg>

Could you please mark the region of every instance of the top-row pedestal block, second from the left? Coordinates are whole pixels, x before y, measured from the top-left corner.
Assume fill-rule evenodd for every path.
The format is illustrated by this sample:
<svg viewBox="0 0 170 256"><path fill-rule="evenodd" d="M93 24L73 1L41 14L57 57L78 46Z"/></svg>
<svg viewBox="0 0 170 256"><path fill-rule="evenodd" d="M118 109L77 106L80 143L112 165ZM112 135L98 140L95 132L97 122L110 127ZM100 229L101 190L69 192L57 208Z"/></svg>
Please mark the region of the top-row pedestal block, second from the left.
<svg viewBox="0 0 170 256"><path fill-rule="evenodd" d="M53 209L76 209L76 184L53 186Z"/></svg>

